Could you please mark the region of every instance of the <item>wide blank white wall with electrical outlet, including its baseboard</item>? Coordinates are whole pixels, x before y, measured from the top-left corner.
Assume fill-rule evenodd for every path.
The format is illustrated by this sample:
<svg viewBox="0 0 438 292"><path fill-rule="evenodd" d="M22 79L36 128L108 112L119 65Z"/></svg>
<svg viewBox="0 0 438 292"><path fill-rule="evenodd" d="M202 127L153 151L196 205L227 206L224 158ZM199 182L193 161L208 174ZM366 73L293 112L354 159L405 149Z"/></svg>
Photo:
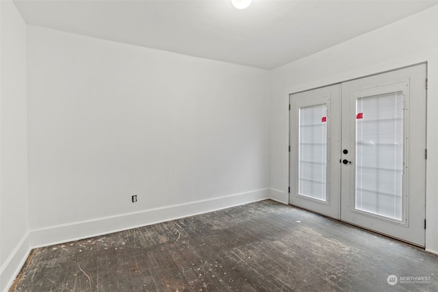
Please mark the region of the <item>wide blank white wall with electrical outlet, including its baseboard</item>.
<svg viewBox="0 0 438 292"><path fill-rule="evenodd" d="M268 71L27 36L32 244L268 197Z"/></svg>

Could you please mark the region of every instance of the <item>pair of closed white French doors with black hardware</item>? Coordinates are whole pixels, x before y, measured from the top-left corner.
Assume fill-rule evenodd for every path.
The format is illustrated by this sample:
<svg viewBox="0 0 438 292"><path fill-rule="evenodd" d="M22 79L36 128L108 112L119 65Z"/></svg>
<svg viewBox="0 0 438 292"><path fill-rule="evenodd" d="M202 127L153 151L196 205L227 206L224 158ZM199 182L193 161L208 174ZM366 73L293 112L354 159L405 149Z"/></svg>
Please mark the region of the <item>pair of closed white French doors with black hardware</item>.
<svg viewBox="0 0 438 292"><path fill-rule="evenodd" d="M424 246L426 64L290 95L289 203Z"/></svg>

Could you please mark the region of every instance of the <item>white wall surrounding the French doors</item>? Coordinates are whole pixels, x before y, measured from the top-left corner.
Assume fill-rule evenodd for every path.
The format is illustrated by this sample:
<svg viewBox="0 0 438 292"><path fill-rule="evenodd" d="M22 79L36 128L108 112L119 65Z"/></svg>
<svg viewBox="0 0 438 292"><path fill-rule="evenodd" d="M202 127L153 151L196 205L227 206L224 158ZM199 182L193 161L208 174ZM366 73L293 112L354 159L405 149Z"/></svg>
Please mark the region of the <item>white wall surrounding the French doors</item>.
<svg viewBox="0 0 438 292"><path fill-rule="evenodd" d="M289 93L428 62L426 249L438 253L438 6L363 34L271 75L271 197L288 202Z"/></svg>

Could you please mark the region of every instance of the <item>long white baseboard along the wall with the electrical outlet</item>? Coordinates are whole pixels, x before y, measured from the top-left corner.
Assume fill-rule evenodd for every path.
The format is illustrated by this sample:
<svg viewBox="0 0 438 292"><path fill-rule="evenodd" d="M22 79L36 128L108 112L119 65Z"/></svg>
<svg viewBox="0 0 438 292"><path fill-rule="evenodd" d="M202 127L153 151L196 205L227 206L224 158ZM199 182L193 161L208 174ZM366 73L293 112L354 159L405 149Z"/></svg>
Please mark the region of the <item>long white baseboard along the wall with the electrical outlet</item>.
<svg viewBox="0 0 438 292"><path fill-rule="evenodd" d="M138 228L140 226L175 220L181 217L235 207L241 204L266 200L268 198L270 198L269 188L257 189L254 191L247 191L240 194L232 194L207 200L198 200L195 202L175 204L135 213L127 213L112 217L103 217L96 220L31 230L31 247L38 248L68 241L86 239L88 237L105 235L131 228Z"/></svg>

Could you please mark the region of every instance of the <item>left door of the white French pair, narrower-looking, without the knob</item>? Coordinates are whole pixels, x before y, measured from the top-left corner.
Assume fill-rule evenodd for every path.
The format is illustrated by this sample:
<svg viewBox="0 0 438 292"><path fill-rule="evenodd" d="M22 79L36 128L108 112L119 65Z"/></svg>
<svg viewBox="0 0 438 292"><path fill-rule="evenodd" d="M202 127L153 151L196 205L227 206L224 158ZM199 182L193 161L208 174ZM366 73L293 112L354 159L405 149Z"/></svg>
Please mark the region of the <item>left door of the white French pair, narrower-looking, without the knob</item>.
<svg viewBox="0 0 438 292"><path fill-rule="evenodd" d="M290 96L290 194L298 207L339 219L340 85Z"/></svg>

